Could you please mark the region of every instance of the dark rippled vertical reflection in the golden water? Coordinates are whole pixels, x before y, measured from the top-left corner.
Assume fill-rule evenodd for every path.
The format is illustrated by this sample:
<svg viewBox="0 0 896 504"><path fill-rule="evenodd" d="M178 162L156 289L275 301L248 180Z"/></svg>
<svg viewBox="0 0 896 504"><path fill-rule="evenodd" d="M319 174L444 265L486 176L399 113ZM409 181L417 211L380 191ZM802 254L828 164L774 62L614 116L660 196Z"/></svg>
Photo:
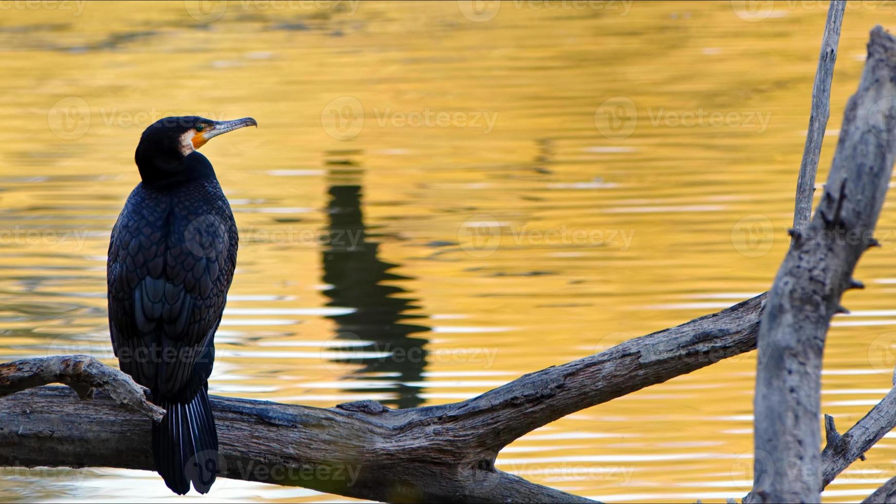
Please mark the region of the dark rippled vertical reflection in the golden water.
<svg viewBox="0 0 896 504"><path fill-rule="evenodd" d="M335 178L339 177L332 180ZM329 192L330 233L324 243L323 282L332 287L324 294L332 299L328 306L356 310L329 317L338 324L337 339L346 344L334 349L346 355L334 362L360 364L361 369L354 373L358 379L394 381L394 385L381 388L348 390L395 394L396 398L383 401L389 406L420 406L423 399L418 387L406 383L422 380L427 340L410 335L429 328L402 322L420 318L404 313L417 308L412 304L417 300L401 297L408 291L394 285L409 278L389 273L397 265L380 261L376 257L379 243L367 241L361 186L332 182ZM358 341L371 343L356 346Z"/></svg>

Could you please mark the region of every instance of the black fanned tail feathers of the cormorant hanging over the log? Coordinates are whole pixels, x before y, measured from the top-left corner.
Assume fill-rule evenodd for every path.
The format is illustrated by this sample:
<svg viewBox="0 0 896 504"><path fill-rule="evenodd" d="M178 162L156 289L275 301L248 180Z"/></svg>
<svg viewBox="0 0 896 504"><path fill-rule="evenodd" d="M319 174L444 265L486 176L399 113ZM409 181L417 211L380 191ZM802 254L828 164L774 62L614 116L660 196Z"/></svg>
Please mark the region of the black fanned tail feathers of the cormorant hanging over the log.
<svg viewBox="0 0 896 504"><path fill-rule="evenodd" d="M168 488L184 495L190 483L207 493L218 475L218 432L208 393L200 389L189 403L161 400L165 417L152 425L152 455Z"/></svg>

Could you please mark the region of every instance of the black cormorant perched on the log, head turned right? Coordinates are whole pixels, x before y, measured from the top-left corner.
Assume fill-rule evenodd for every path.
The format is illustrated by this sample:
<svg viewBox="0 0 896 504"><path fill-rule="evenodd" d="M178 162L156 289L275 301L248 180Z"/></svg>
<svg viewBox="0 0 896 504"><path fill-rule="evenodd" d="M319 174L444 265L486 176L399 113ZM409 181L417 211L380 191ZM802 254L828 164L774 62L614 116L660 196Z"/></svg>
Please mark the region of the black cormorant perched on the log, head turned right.
<svg viewBox="0 0 896 504"><path fill-rule="evenodd" d="M168 488L205 493L218 473L208 378L215 330L237 263L237 225L199 149L257 126L166 117L146 128L134 159L142 182L109 241L109 333L123 372L166 410L152 425L152 457Z"/></svg>

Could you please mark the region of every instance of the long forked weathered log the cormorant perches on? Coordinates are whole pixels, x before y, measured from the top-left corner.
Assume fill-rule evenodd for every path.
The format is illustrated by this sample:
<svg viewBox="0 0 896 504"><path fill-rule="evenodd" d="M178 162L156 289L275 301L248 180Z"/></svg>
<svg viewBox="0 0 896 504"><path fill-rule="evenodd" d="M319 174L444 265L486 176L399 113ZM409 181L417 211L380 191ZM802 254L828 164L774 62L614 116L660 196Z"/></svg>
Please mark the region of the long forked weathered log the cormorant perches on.
<svg viewBox="0 0 896 504"><path fill-rule="evenodd" d="M588 501L495 470L497 452L566 414L752 350L764 299L450 405L390 410L361 402L319 409L212 397L225 475L372 500ZM30 360L0 364L0 375L29 366L36 367ZM146 414L105 395L90 402L72 398L47 387L0 398L0 466L152 468Z"/></svg>

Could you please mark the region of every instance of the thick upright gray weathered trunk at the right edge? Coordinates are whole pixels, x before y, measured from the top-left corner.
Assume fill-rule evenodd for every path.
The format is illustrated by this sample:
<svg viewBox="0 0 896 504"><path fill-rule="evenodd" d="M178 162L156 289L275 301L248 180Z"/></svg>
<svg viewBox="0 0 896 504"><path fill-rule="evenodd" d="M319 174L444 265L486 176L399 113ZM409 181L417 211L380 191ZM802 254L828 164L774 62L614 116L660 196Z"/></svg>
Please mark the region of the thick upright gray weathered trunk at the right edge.
<svg viewBox="0 0 896 504"><path fill-rule="evenodd" d="M822 491L818 428L824 339L843 309L896 158L896 40L871 32L865 72L846 107L840 141L812 223L795 231L769 293L758 338L754 498L817 502ZM892 107L892 109L891 109ZM763 467L761 460L771 460Z"/></svg>

